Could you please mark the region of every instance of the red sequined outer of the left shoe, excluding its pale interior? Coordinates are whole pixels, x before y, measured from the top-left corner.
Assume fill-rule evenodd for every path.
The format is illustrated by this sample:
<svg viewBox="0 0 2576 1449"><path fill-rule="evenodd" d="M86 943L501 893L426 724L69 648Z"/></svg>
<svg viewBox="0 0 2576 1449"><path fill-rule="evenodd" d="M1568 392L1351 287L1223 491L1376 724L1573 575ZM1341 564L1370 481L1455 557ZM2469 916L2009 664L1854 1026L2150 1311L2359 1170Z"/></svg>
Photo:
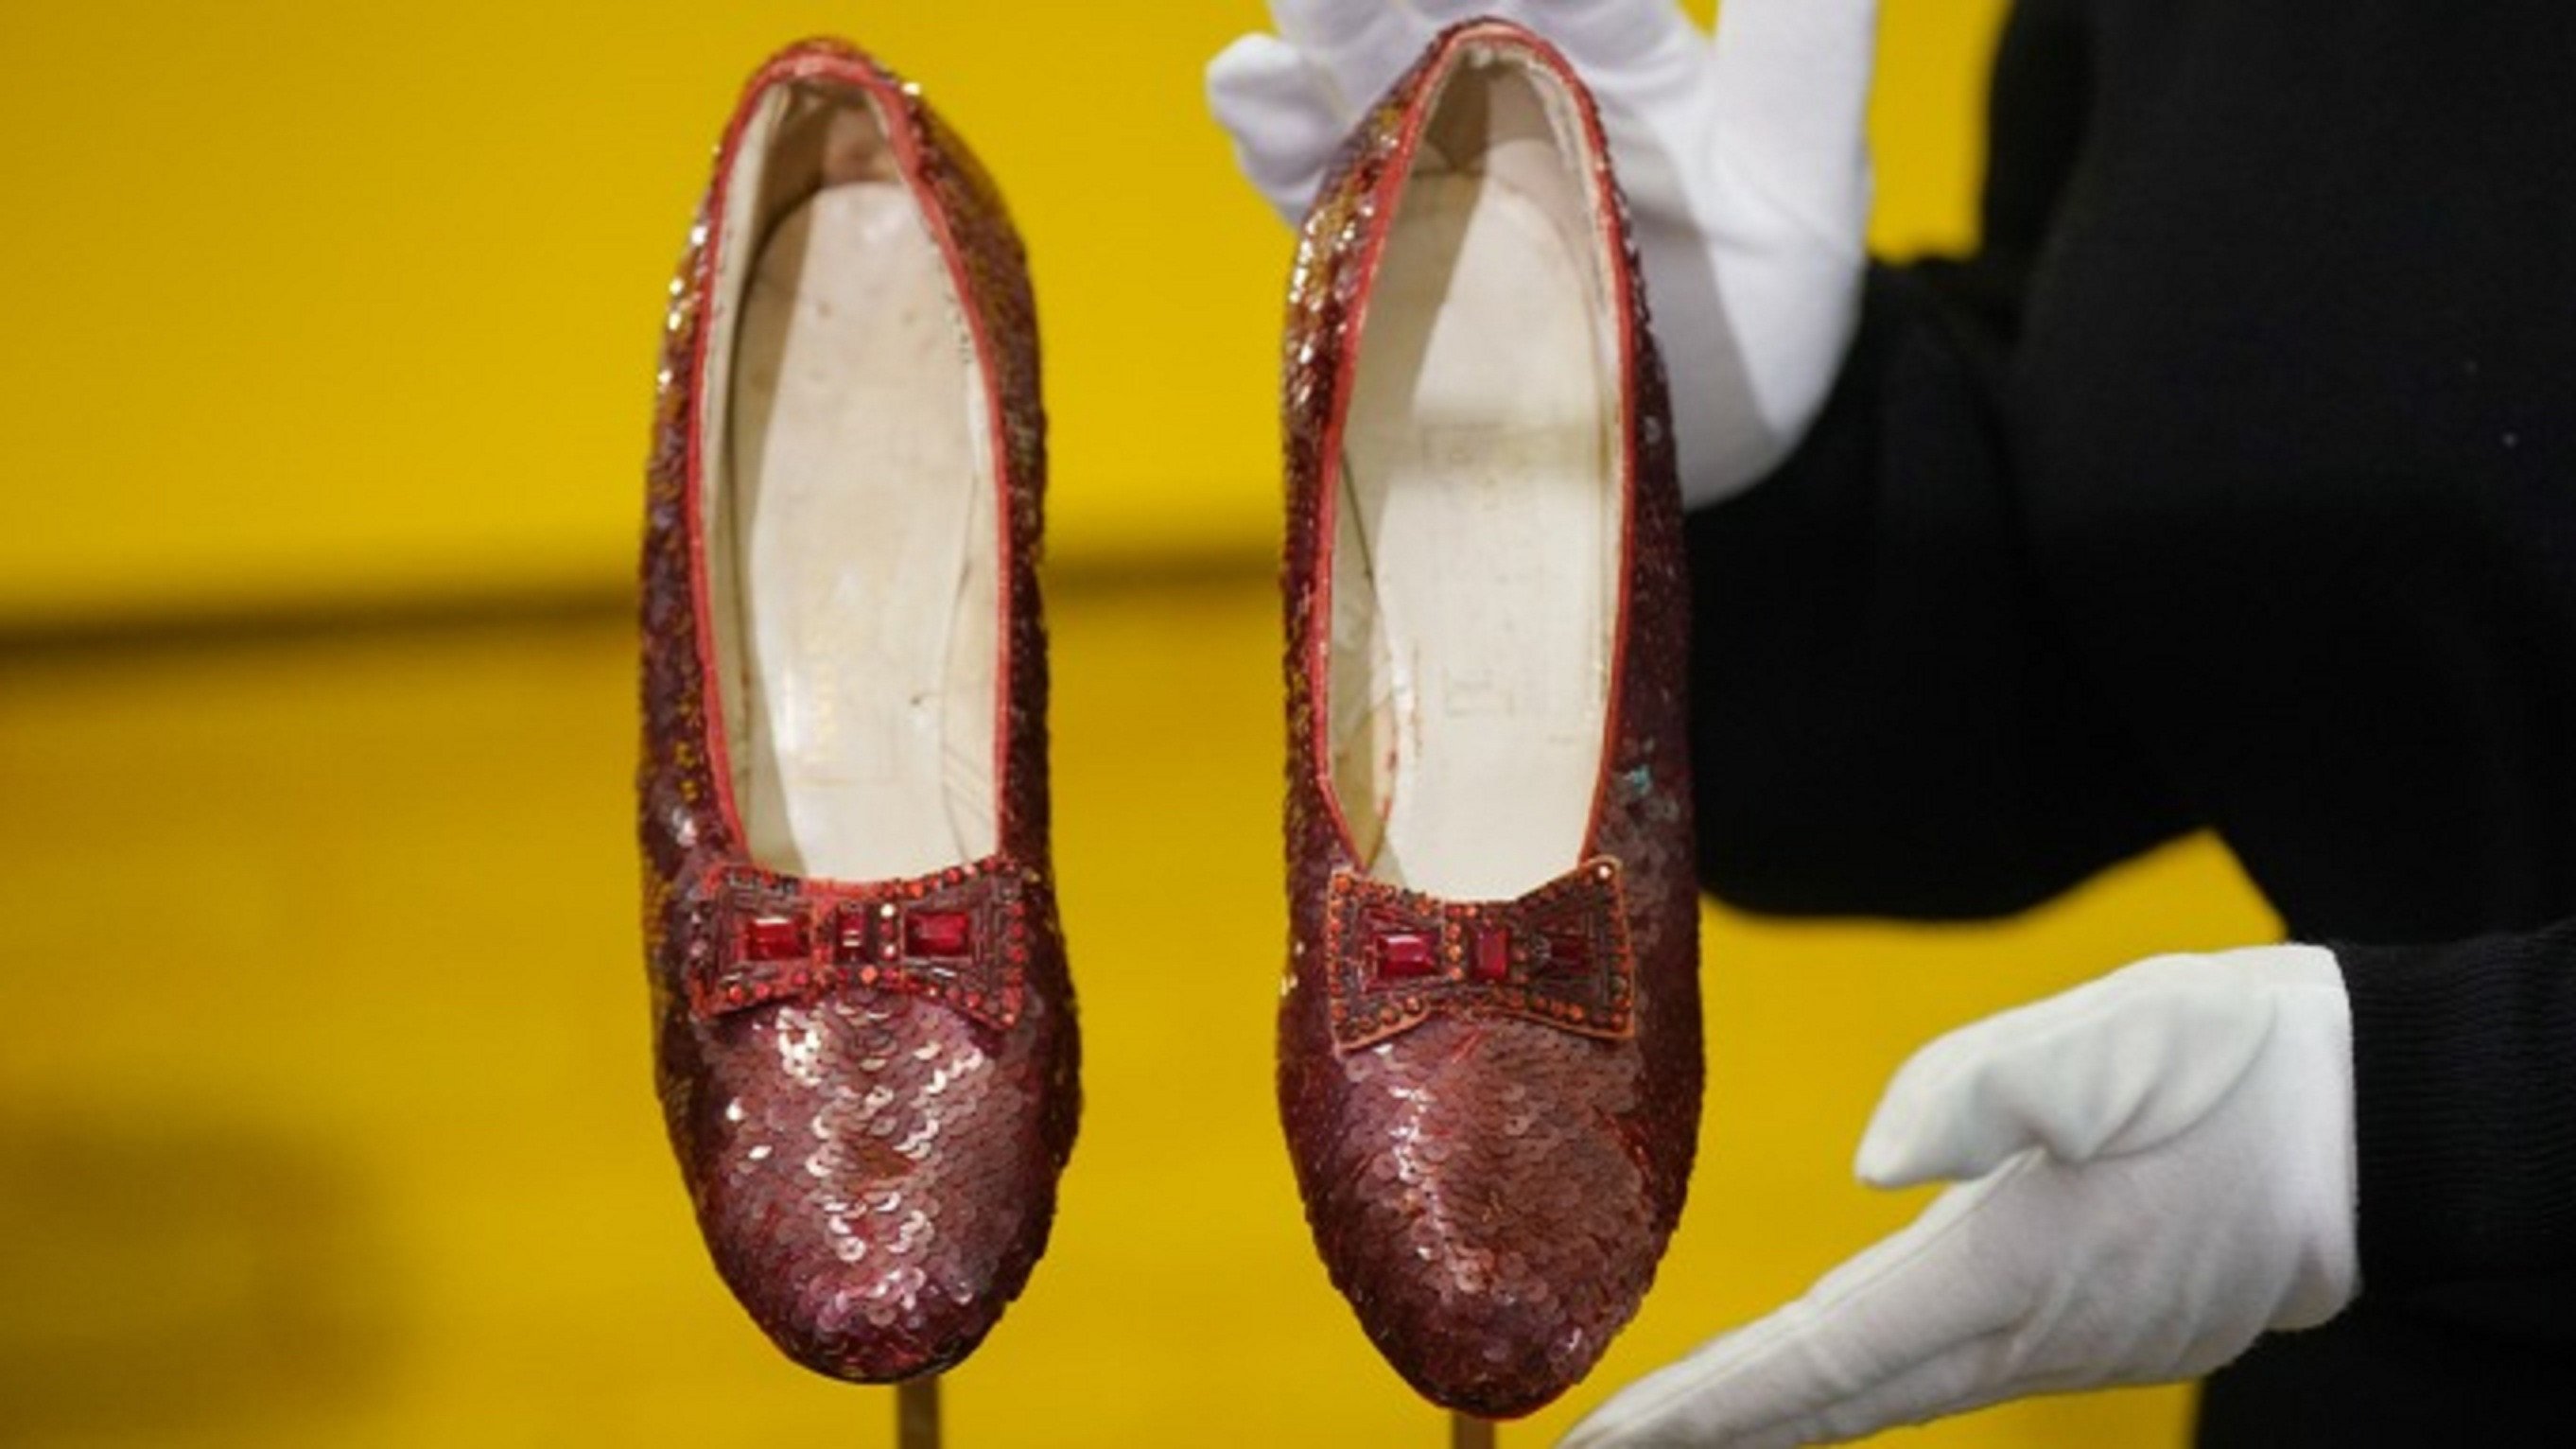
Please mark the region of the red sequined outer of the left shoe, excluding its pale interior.
<svg viewBox="0 0 2576 1449"><path fill-rule="evenodd" d="M701 549L701 340L721 193L773 88L873 106L951 260L992 389L1002 673L997 853L914 882L809 882L747 859L711 696ZM1038 338L1020 240L920 95L840 41L744 90L698 211L662 348L644 539L644 951L662 1116L716 1269L796 1361L902 1379L963 1359L1046 1248L1074 1145L1077 1039L1048 892L1038 614ZM902 905L899 905L902 902ZM966 918L969 951L891 936L904 905ZM799 933L729 923L783 915ZM945 944L953 933L933 931ZM891 954L886 946L894 946Z"/></svg>

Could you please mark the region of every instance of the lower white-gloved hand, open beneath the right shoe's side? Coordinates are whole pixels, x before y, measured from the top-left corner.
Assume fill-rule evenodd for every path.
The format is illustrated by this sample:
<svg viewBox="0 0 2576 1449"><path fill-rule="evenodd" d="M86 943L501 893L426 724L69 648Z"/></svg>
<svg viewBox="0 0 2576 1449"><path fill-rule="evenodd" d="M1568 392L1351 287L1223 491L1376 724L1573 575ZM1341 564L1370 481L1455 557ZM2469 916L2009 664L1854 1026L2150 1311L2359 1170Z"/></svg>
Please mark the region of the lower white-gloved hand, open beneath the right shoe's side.
<svg viewBox="0 0 2576 1449"><path fill-rule="evenodd" d="M1564 1444L1819 1444L2205 1374L2352 1302L2352 1008L2329 951L2138 962L1917 1052L1860 1178L1973 1181Z"/></svg>

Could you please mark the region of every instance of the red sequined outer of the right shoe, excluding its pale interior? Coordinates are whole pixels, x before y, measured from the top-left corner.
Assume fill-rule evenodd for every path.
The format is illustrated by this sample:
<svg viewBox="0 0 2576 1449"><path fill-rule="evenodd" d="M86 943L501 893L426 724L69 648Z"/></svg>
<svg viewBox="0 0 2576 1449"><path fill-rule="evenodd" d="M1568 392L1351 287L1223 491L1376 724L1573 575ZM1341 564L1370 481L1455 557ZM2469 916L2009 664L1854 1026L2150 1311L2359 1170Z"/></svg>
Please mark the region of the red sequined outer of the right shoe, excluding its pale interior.
<svg viewBox="0 0 2576 1449"><path fill-rule="evenodd" d="M1615 890L1574 918L1502 905L1499 969L1497 946L1466 926L1466 905L1412 897L1412 928L1437 928L1461 959L1381 990L1368 949L1381 926L1352 928L1350 913L1381 910L1386 887L1365 882L1350 848L1321 743L1327 498L1376 258L1427 111L1468 54L1528 64L1538 85L1577 98L1602 224L1615 232L1628 557L1610 730L1582 843L1582 859L1615 866ZM1443 34L1350 137L1298 240L1283 413L1291 975L1280 1116L1316 1248L1370 1341L1427 1397L1520 1415L1589 1372L1636 1312L1682 1212L1700 1119L1687 588L1664 374L1597 119L1535 36L1494 21Z"/></svg>

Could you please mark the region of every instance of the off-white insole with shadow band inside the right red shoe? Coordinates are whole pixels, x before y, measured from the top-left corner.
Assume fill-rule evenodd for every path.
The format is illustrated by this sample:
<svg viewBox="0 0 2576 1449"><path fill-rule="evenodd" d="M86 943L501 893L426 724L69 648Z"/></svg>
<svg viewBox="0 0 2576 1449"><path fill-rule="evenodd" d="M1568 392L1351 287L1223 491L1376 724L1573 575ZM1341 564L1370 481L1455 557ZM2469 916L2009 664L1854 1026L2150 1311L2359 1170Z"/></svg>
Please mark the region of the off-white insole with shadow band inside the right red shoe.
<svg viewBox="0 0 2576 1449"><path fill-rule="evenodd" d="M1342 438L1334 786L1370 871L1520 895L1584 846L1615 606L1615 382L1589 255L1492 175L1419 173Z"/></svg>

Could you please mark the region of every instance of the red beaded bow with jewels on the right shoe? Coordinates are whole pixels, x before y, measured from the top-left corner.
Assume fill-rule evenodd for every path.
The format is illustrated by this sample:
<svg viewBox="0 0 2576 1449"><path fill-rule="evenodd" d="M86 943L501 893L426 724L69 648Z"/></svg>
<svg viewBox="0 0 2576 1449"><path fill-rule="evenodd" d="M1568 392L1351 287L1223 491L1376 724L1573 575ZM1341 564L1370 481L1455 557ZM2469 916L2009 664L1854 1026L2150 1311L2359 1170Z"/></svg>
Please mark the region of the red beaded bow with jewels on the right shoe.
<svg viewBox="0 0 2576 1449"><path fill-rule="evenodd" d="M1443 1011L1517 1016L1610 1042L1636 1034L1636 957L1610 856L1517 900L1476 902L1334 871L1324 959L1332 1039L1345 1052Z"/></svg>

